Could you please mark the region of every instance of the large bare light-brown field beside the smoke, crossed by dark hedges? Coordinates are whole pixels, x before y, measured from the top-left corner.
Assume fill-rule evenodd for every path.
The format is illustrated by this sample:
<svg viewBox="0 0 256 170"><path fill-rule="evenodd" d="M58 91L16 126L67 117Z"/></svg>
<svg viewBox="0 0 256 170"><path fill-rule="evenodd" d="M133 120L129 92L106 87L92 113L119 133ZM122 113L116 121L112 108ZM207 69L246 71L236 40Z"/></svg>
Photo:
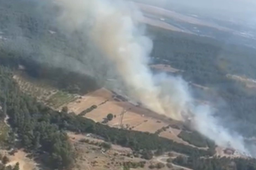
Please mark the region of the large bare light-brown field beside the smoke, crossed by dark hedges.
<svg viewBox="0 0 256 170"><path fill-rule="evenodd" d="M123 126L142 132L154 133L162 127L168 126L171 120L168 118L157 115L156 113L135 106L128 101L115 101L113 98L114 93L107 89L98 89L92 93L82 96L72 103L69 103L68 109L76 114L81 113L83 110L90 108L92 105L97 105L95 110L90 111L85 117L94 120L95 122L102 122L107 114L113 113L116 116L107 124L112 127L119 127L121 121L121 112L125 109L123 116ZM101 103L104 103L101 105Z"/></svg>

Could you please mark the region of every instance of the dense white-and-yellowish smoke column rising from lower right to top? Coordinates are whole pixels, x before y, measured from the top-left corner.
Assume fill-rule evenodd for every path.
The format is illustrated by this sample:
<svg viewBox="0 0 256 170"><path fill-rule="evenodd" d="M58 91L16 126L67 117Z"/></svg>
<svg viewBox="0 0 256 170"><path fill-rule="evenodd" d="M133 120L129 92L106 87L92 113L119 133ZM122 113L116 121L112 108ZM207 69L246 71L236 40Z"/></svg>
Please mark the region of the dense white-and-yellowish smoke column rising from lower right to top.
<svg viewBox="0 0 256 170"><path fill-rule="evenodd" d="M159 114L192 118L198 132L218 145L246 152L243 139L218 124L209 106L195 106L180 77L154 76L148 67L152 41L139 29L142 14L128 1L64 0L61 20L70 31L89 31L102 54L114 63L130 96ZM89 26L88 26L89 25ZM85 29L86 28L86 29ZM88 29L89 28L89 29Z"/></svg>

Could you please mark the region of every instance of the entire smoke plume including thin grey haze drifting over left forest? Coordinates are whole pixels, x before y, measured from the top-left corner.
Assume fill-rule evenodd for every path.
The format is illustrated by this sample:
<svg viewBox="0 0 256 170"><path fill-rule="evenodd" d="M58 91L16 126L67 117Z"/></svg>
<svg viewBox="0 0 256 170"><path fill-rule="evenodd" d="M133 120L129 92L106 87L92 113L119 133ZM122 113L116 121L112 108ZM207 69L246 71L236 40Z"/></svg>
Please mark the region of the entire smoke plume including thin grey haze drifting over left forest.
<svg viewBox="0 0 256 170"><path fill-rule="evenodd" d="M179 76L152 74L148 66L152 62L149 58L152 40L146 36L145 26L138 23L143 16L133 3L111 0L22 2L25 7L27 4L36 6L37 11L34 8L22 10L39 20L28 20L37 26L33 30L28 25L32 31L21 29L26 22L18 23L15 17L10 17L8 27L1 28L6 38L1 41L2 48L29 60L95 77L101 86L128 94L150 110L176 120L191 120L195 130L218 145L247 152L243 137L233 132L233 128L224 128L222 116L215 114L216 108L195 102L188 82ZM6 36L8 31L15 36ZM223 112L222 115L228 114ZM229 124L240 126L232 122L232 118Z"/></svg>

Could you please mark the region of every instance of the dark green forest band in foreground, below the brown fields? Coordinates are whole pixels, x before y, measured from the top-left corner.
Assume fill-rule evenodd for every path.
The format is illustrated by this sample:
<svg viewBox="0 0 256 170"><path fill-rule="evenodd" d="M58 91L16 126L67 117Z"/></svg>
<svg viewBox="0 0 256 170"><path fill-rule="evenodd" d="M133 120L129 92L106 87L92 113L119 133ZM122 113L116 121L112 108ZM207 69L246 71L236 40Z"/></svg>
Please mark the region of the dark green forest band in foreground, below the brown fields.
<svg viewBox="0 0 256 170"><path fill-rule="evenodd" d="M104 137L106 142L130 147L145 159L151 159L154 151L156 151L155 153L175 151L190 156L192 161L202 159L198 162L204 162L205 160L211 162L209 164L212 166L215 164L214 167L216 168L221 167L222 159L207 158L213 156L215 147L210 147L208 150L197 149L158 137L156 134L108 127L73 113L68 113L66 109L61 112L54 111L22 93L12 77L11 71L5 67L0 67L0 102L3 105L3 110L6 110L9 116L9 124L13 132L18 134L23 147L28 152L46 152L49 159L45 161L47 161L47 165L53 168L68 169L75 159L74 151L68 142L65 130L94 133ZM177 158L174 162L188 167L198 166L196 163L192 164L191 161L185 164L179 159ZM241 162L241 165L239 162ZM251 162L251 159L239 159L236 166L250 166L250 170L256 169ZM202 168L207 166L208 163ZM198 166L198 170L200 168Z"/></svg>

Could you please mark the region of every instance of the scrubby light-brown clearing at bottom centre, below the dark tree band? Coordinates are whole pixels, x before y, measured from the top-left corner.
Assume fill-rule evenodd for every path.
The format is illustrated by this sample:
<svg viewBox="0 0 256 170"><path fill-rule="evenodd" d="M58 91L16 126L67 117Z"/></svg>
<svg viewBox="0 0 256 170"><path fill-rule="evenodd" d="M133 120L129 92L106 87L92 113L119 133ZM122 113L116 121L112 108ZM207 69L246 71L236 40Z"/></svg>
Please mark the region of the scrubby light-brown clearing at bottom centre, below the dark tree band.
<svg viewBox="0 0 256 170"><path fill-rule="evenodd" d="M111 149L105 150L94 144L80 142L81 139L88 139L94 142L103 142L102 140L87 137L87 135L68 133L71 143L75 146L76 163L73 170L120 170L123 169L123 162L140 162L145 161L145 167L137 168L137 170L149 170L150 164L157 164L157 159L147 161L145 159L132 156L131 149L112 145ZM130 154L131 156L128 156ZM167 170L167 167L162 170ZM171 169L169 169L171 170Z"/></svg>

